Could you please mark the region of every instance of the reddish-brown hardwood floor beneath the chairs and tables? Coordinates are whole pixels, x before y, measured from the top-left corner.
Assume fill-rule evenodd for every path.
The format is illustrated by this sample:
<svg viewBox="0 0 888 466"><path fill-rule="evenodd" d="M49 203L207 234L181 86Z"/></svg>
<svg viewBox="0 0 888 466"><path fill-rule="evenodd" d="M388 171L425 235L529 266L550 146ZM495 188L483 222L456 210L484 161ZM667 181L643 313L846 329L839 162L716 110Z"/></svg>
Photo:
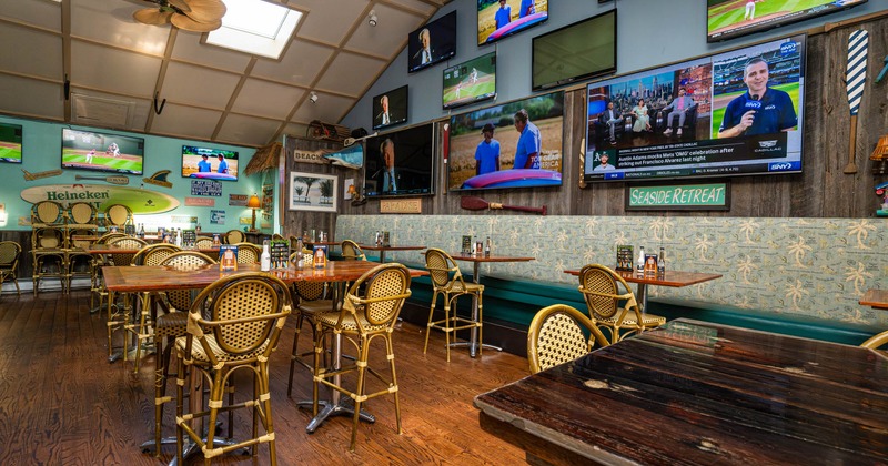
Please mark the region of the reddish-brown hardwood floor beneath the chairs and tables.
<svg viewBox="0 0 888 466"><path fill-rule="evenodd" d="M87 291L0 296L0 464L154 465L173 457L174 446L160 459L139 448L153 436L154 356L145 357L138 373L132 362L109 364L105 316L90 315L88 307ZM297 367L293 398L286 397L293 323L287 322L271 364L280 464L524 463L522 450L481 429L472 399L527 375L525 358L485 351L473 359L461 348L447 364L443 334L432 334L423 355L423 330L404 323L394 335L404 434L395 432L393 398L371 399L366 407L377 421L361 424L356 450L350 453L350 417L327 419L313 435L305 433L311 411L299 409L295 401L311 398L306 369ZM303 335L309 337L300 338L300 348L310 350L307 326ZM373 350L371 365L384 367L379 357L384 351ZM164 409L164 436L174 435L174 404ZM235 437L250 428L251 417L240 414ZM269 463L266 445L259 455L260 464ZM245 462L249 456L216 460Z"/></svg>

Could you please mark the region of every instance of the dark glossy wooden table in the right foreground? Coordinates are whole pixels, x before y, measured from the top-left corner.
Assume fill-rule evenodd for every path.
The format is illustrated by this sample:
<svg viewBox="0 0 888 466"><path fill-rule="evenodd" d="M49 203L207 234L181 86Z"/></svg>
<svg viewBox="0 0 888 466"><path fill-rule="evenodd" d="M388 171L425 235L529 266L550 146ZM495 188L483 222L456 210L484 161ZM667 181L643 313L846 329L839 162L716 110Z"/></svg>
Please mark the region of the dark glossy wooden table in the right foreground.
<svg viewBox="0 0 888 466"><path fill-rule="evenodd" d="M888 357L679 318L475 397L553 464L886 464Z"/></svg>

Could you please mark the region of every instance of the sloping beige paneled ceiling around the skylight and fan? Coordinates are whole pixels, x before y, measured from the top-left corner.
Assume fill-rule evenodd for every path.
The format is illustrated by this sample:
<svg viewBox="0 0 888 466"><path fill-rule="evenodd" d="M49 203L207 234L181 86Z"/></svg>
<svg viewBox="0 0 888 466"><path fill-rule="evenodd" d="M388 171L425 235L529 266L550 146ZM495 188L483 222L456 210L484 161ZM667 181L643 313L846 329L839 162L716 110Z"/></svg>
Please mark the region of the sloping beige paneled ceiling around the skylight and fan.
<svg viewBox="0 0 888 466"><path fill-rule="evenodd" d="M279 61L138 23L142 0L0 0L0 113L238 145L303 135L340 122L450 0L274 2L304 13Z"/></svg>

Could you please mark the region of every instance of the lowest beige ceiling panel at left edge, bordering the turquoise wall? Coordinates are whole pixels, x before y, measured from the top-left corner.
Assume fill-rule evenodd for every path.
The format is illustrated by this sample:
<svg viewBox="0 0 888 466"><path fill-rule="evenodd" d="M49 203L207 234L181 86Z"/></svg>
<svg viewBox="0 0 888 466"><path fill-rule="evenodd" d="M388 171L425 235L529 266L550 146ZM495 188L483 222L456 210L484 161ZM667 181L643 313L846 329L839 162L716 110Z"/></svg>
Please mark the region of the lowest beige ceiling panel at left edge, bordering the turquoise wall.
<svg viewBox="0 0 888 466"><path fill-rule="evenodd" d="M0 74L0 102L3 112L64 120L61 84Z"/></svg>

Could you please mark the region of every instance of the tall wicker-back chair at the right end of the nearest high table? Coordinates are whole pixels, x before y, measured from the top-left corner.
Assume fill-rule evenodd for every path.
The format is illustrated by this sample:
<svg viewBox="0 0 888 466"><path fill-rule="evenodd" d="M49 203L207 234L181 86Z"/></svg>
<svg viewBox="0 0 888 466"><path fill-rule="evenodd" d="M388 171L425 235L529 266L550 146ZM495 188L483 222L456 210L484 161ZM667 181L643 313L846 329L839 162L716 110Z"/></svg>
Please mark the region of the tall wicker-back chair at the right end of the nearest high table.
<svg viewBox="0 0 888 466"><path fill-rule="evenodd" d="M404 301L410 297L410 271L402 264L380 264L361 275L345 294L342 310L326 312L315 316L314 337L314 389L313 412L317 415L319 388L326 385L354 399L354 416L352 417L352 442L350 449L354 450L357 436L357 421L361 414L361 404L380 395L394 395L395 417L397 433L401 434L401 405L397 399L397 377L395 376L395 355L392 345L397 315ZM354 364L340 369L326 371L321 362L324 335L341 335L354 345L357 357ZM375 337L385 342L386 361L389 361L389 377L383 372L367 366L370 359L370 344ZM339 355L333 355L336 358ZM337 359L336 359L337 361ZM354 389L340 385L346 377L339 376L346 373L357 373L357 383ZM366 393L366 375L372 375L382 387L377 392Z"/></svg>

